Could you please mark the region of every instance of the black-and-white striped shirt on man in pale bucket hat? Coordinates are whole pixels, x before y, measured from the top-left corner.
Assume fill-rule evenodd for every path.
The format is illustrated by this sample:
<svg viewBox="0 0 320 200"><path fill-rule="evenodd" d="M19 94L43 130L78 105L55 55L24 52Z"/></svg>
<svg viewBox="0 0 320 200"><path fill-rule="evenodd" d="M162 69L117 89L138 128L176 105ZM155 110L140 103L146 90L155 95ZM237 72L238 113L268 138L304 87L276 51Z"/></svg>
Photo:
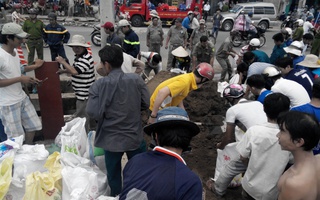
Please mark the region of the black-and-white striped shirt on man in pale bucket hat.
<svg viewBox="0 0 320 200"><path fill-rule="evenodd" d="M95 81L94 62L87 51L74 59L73 67L78 75L72 75L72 87L77 100L86 100L89 97L89 88Z"/></svg>

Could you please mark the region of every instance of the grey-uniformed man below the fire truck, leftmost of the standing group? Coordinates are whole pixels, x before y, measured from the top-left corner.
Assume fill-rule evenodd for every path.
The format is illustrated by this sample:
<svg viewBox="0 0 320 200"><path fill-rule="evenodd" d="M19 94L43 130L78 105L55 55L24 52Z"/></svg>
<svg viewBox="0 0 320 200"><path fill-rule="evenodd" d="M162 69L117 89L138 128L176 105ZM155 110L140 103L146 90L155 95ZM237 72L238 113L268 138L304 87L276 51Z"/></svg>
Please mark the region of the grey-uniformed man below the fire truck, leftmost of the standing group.
<svg viewBox="0 0 320 200"><path fill-rule="evenodd" d="M160 54L160 48L163 46L163 30L162 26L158 24L160 17L152 15L151 19L152 23L147 29L147 47L149 47L149 52Z"/></svg>

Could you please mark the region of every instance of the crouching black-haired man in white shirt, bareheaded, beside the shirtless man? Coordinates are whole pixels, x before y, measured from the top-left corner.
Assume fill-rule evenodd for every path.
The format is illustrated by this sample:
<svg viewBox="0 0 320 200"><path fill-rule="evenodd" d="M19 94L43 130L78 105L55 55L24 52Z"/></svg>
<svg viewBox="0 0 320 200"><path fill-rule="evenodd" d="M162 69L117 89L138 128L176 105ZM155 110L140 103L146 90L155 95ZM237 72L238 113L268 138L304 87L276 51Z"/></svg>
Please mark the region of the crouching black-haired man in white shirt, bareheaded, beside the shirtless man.
<svg viewBox="0 0 320 200"><path fill-rule="evenodd" d="M277 182L289 162L288 151L278 143L277 118L289 110L290 100L281 93L269 94L263 108L268 122L249 128L237 145L240 159L247 166L241 181L244 198L277 199Z"/></svg>

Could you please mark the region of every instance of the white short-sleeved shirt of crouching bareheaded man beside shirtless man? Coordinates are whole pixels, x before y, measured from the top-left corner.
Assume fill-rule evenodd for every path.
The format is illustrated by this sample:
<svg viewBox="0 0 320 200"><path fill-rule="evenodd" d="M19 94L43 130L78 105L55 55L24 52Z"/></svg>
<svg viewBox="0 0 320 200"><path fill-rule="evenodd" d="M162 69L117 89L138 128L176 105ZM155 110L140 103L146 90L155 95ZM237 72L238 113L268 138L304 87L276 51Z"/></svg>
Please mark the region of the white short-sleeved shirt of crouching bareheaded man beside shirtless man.
<svg viewBox="0 0 320 200"><path fill-rule="evenodd" d="M289 162L289 151L282 151L278 143L277 124L265 123L247 130L237 145L244 158L249 158L242 179L243 189L254 199L277 199L277 183Z"/></svg>

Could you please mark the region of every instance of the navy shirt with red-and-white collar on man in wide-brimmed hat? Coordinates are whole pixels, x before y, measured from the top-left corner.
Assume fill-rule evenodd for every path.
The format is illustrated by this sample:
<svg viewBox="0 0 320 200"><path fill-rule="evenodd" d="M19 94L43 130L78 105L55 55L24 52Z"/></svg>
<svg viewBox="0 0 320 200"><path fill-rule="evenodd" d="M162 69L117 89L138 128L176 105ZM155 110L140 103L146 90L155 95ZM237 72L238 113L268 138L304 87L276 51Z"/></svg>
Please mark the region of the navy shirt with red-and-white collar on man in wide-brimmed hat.
<svg viewBox="0 0 320 200"><path fill-rule="evenodd" d="M202 199L199 177L180 156L160 150L135 155L123 170L120 200L128 199Z"/></svg>

